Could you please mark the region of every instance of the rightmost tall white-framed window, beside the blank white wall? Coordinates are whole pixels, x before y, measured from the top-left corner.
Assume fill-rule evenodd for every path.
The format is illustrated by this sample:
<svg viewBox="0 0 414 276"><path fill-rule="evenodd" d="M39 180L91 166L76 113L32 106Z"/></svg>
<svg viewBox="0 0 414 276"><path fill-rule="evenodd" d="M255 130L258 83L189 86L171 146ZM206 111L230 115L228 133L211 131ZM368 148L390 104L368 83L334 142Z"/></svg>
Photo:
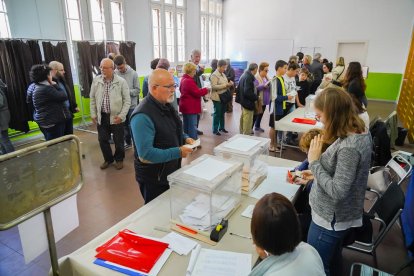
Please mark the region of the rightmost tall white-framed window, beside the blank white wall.
<svg viewBox="0 0 414 276"><path fill-rule="evenodd" d="M215 58L220 59L223 45L222 0L201 0L200 10L203 60L208 62Z"/></svg>

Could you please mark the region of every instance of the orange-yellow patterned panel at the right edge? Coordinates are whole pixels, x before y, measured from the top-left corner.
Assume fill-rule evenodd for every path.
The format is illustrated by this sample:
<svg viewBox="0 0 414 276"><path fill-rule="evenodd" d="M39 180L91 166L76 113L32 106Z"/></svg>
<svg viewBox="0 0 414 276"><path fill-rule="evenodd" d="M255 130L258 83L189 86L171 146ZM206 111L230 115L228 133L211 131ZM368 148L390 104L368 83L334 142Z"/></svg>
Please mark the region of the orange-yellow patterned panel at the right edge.
<svg viewBox="0 0 414 276"><path fill-rule="evenodd" d="M414 33L397 105L398 118L408 129L408 140L414 143Z"/></svg>

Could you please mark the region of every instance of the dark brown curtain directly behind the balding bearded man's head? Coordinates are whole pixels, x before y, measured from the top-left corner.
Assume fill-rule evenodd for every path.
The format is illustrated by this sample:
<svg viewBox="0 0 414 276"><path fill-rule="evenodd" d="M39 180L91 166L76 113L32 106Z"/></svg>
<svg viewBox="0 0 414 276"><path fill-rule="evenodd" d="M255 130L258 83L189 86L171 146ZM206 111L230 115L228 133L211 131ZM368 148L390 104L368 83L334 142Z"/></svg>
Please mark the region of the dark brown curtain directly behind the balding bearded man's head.
<svg viewBox="0 0 414 276"><path fill-rule="evenodd" d="M74 93L73 88L73 78L72 78L72 69L70 67L70 60L69 60L69 50L68 45L66 42L58 42L53 45L51 42L42 42L43 46L43 53L45 56L45 62L49 64L49 62L55 60L59 61L63 64L63 68L65 69L65 81L69 89Z"/></svg>

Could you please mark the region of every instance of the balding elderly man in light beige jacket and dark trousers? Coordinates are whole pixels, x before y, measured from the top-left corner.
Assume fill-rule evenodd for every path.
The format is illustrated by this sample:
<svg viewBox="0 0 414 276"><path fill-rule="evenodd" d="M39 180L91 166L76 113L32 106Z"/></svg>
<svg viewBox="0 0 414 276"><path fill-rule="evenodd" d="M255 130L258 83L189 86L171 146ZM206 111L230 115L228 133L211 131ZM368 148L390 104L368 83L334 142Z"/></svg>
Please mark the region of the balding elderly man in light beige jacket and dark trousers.
<svg viewBox="0 0 414 276"><path fill-rule="evenodd" d="M114 74L114 62L109 58L101 61L101 75L93 79L90 92L92 121L97 124L104 170L115 161L115 168L123 168L124 122L131 106L127 82ZM115 153L112 153L109 139L113 134Z"/></svg>

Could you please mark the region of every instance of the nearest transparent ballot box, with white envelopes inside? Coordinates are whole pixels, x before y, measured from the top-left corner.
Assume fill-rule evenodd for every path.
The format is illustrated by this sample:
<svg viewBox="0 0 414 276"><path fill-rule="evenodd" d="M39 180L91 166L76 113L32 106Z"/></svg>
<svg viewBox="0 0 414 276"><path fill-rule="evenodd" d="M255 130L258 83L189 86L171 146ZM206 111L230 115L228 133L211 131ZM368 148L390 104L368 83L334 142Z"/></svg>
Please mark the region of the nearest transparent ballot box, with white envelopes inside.
<svg viewBox="0 0 414 276"><path fill-rule="evenodd" d="M170 174L171 220L209 231L241 199L243 164L204 154Z"/></svg>

